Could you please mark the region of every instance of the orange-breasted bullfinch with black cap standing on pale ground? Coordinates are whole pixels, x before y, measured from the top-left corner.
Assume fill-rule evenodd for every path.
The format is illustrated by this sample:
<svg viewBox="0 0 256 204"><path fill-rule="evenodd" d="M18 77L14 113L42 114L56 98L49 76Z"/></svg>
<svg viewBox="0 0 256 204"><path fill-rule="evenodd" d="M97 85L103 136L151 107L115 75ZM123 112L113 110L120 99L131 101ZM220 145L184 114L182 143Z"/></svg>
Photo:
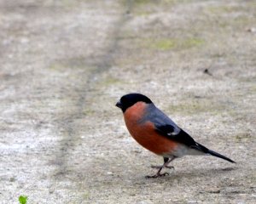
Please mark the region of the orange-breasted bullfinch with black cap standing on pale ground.
<svg viewBox="0 0 256 204"><path fill-rule="evenodd" d="M161 173L163 168L169 166L171 161L183 156L211 155L236 163L230 158L219 154L195 142L181 127L163 111L160 111L147 96L131 93L123 95L116 106L122 110L125 125L133 139L145 149L152 151L164 159L163 165L151 166L158 171L146 178L158 178L169 173Z"/></svg>

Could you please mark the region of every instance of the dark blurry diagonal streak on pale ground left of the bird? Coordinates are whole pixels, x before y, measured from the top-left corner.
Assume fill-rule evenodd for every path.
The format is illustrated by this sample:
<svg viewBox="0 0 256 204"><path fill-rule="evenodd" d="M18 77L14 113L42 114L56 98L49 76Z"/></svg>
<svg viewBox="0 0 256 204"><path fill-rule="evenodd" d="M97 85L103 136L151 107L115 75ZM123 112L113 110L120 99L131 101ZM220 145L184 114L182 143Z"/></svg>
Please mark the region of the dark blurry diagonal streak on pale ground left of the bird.
<svg viewBox="0 0 256 204"><path fill-rule="evenodd" d="M94 78L96 75L101 74L104 71L108 71L108 69L113 65L114 62L114 54L118 53L118 41L120 36L120 31L122 26L125 25L125 22L129 20L128 13L131 11L133 5L133 0L128 0L125 2L125 13L121 15L120 20L117 22L116 26L112 33L112 42L110 42L106 54L102 56L102 59L97 63L96 69L91 71L88 80L84 82L84 85L81 86L82 94L78 99L78 103L76 105L77 111L72 115L67 116L67 119L61 121L61 125L65 127L63 134L63 139L60 144L60 154L57 154L55 161L59 164L59 170L55 173L54 178L58 178L59 176L67 173L67 156L68 151L74 146L74 141L78 140L78 133L76 129L73 128L73 120L76 118L80 118L82 116L82 111L84 109L84 101L86 99L86 88L93 86L95 83Z"/></svg>

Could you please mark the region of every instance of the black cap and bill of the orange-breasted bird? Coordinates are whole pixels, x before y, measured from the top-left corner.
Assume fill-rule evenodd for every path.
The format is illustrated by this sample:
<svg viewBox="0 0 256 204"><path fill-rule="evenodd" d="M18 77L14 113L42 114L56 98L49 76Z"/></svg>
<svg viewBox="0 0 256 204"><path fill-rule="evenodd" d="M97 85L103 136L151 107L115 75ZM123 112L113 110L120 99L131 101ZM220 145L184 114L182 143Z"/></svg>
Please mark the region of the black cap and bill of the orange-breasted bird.
<svg viewBox="0 0 256 204"><path fill-rule="evenodd" d="M121 99L119 99L119 101L116 103L116 106L119 107L123 112L125 112L126 109L128 109L132 105L135 105L137 102L152 104L152 101L143 94L126 94L123 95Z"/></svg>

